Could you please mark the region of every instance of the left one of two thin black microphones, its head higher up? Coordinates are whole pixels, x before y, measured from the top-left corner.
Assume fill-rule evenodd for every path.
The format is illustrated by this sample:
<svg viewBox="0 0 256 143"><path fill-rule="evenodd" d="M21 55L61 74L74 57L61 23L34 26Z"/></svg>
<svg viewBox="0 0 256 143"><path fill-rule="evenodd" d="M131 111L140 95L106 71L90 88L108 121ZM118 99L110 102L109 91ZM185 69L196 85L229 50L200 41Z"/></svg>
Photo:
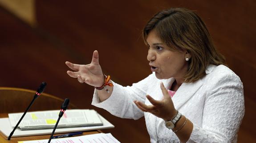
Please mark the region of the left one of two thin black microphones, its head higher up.
<svg viewBox="0 0 256 143"><path fill-rule="evenodd" d="M28 109L31 107L31 105L33 104L34 100L37 99L37 97L43 93L45 91L45 87L46 87L46 82L42 82L41 85L39 86L39 88L37 89L37 93L34 95L33 100L31 101L31 103L28 105L28 108L25 110L25 112L23 113L23 115L21 116L19 122L16 124L16 126L14 127L14 129L12 130L12 132L10 133L8 140L11 139L14 131L16 130L16 128L18 127L18 125L20 124L21 120L23 119L23 117L26 115L26 113L28 112Z"/></svg>

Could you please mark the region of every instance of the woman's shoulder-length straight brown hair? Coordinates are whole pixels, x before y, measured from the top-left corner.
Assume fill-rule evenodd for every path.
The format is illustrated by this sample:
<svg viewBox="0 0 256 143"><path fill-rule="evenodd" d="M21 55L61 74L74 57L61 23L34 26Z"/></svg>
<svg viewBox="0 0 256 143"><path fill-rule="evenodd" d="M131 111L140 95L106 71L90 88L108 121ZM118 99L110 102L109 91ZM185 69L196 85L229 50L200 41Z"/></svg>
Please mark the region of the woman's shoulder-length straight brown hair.
<svg viewBox="0 0 256 143"><path fill-rule="evenodd" d="M205 76L209 64L217 66L225 62L223 55L216 50L202 19L191 10L170 8L158 12L143 29L145 43L153 29L171 50L187 50L191 54L185 82L194 82Z"/></svg>

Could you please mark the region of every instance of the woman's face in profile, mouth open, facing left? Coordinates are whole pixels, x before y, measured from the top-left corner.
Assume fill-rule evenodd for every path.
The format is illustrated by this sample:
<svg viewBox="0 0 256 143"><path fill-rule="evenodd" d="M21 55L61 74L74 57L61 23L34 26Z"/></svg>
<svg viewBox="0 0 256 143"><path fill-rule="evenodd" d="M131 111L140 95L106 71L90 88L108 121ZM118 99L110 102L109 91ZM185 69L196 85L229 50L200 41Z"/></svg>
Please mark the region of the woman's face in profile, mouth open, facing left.
<svg viewBox="0 0 256 143"><path fill-rule="evenodd" d="M171 51L154 29L150 31L146 41L149 46L147 60L150 61L151 71L155 72L156 77L158 79L175 77L176 80L183 80L188 68L185 58L190 58L191 55L187 51Z"/></svg>

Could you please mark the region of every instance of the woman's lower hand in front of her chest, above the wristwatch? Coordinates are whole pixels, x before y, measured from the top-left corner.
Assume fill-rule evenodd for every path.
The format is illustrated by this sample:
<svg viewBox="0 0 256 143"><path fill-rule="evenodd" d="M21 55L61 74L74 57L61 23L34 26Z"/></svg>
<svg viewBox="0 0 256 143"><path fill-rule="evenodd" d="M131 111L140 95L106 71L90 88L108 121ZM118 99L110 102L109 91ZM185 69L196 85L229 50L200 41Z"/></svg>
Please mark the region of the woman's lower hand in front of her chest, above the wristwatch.
<svg viewBox="0 0 256 143"><path fill-rule="evenodd" d="M141 109L143 112L150 112L154 116L157 116L159 118L162 118L163 120L171 120L175 114L177 113L174 104L171 100L171 97L165 89L163 82L161 82L161 90L163 93L163 99L162 100L154 100L149 95L146 95L146 98L150 101L152 105L146 105L143 104L140 101L135 100L134 103L137 105L139 109Z"/></svg>

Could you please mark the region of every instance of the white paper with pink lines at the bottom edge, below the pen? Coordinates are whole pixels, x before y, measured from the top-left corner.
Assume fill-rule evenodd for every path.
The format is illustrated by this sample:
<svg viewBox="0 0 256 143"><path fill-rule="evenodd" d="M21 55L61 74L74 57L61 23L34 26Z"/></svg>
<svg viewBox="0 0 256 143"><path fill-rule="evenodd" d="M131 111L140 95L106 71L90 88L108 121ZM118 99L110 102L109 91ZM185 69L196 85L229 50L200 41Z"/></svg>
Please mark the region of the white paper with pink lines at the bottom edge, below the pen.
<svg viewBox="0 0 256 143"><path fill-rule="evenodd" d="M19 141L18 143L48 143L49 139L31 140L31 141ZM51 143L120 143L110 133L82 135L69 138L52 139Z"/></svg>

